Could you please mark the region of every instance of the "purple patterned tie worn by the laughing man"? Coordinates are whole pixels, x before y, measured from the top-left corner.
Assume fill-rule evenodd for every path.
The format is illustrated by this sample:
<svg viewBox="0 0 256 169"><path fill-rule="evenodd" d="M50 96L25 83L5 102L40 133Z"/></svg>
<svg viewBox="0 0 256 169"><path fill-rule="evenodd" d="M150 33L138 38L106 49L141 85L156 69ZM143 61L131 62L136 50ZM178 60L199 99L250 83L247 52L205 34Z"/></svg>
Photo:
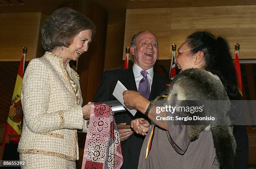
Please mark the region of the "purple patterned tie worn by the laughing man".
<svg viewBox="0 0 256 169"><path fill-rule="evenodd" d="M148 99L150 94L150 85L149 85L149 79L147 77L147 74L148 74L147 71L141 71L141 75L143 76L143 78L139 83L138 92L141 93L142 96Z"/></svg>

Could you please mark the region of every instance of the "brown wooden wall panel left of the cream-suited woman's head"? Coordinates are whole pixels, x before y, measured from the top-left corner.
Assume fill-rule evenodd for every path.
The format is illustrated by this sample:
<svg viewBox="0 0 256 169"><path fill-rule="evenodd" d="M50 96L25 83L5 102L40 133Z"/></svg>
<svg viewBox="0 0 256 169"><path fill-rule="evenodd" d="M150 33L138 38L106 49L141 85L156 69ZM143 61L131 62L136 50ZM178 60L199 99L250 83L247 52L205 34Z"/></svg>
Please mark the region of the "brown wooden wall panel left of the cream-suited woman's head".
<svg viewBox="0 0 256 169"><path fill-rule="evenodd" d="M26 61L42 54L38 41L42 13L0 13L0 61L20 61L27 47ZM39 44L39 45L38 45Z"/></svg>

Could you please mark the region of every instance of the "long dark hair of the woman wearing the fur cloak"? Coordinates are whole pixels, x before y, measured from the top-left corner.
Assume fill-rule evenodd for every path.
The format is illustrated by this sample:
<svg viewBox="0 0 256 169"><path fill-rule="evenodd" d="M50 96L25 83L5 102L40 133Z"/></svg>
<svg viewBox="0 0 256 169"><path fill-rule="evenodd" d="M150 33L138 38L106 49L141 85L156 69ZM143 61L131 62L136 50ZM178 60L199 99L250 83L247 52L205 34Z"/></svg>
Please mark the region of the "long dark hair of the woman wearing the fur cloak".
<svg viewBox="0 0 256 169"><path fill-rule="evenodd" d="M199 31L186 39L191 54L204 53L204 69L217 75L225 86L230 100L239 100L236 71L230 54L230 47L225 38L216 38L212 33Z"/></svg>

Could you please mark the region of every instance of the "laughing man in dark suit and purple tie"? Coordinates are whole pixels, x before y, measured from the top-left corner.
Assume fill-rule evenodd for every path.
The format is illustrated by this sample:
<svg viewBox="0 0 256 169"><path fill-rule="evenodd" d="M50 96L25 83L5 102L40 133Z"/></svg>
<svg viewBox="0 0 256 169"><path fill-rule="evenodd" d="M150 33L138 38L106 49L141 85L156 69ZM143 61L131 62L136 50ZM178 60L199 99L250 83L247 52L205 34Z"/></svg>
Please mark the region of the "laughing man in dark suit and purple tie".
<svg viewBox="0 0 256 169"><path fill-rule="evenodd" d="M105 71L94 102L116 100L112 93L117 81L123 83L128 90L139 91L140 88L148 88L149 100L153 100L164 91L169 79L157 75L153 70L158 56L158 41L154 33L149 30L142 30L133 35L130 50L134 57L133 67ZM142 71L146 71L146 77L145 74L143 76ZM148 87L141 86L140 82L143 78L149 82L149 84L147 83ZM125 111L115 114L115 121L117 124L130 124L131 120L139 117L146 118L140 112L137 112L133 117L128 111ZM122 169L137 169L144 136L134 133L131 129L119 129L119 134L124 159Z"/></svg>

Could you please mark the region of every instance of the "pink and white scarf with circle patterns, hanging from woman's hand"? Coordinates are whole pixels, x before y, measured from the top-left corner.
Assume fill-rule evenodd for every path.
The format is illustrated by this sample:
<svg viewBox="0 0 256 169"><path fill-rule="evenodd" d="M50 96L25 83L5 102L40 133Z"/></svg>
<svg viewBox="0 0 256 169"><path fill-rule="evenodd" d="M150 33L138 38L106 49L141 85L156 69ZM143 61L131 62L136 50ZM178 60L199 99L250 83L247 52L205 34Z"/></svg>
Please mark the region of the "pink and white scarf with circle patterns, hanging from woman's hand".
<svg viewBox="0 0 256 169"><path fill-rule="evenodd" d="M120 169L123 155L113 111L104 103L91 103L82 169Z"/></svg>

